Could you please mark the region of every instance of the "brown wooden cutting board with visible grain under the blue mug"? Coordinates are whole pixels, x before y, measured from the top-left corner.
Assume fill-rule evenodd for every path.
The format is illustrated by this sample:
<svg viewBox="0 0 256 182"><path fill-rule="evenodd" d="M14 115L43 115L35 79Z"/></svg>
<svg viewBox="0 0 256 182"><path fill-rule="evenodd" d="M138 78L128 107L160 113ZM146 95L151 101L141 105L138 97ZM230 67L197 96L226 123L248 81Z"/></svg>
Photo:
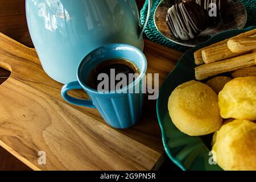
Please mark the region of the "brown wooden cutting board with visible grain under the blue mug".
<svg viewBox="0 0 256 182"><path fill-rule="evenodd" d="M180 52L146 41L148 73L160 84ZM151 170L163 161L156 101L145 101L131 129L105 124L96 109L67 104L62 84L43 71L35 49L0 33L0 67L11 76L0 85L0 145L34 170ZM82 90L73 96L88 98ZM46 165L38 163L46 152Z"/></svg>

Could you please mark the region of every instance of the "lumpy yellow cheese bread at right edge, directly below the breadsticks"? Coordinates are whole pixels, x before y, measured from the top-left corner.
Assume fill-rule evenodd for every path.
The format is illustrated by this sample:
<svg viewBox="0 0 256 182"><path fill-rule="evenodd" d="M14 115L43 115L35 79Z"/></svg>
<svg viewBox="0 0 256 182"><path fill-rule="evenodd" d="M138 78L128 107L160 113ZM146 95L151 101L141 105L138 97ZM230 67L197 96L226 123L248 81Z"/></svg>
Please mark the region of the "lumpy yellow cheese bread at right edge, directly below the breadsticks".
<svg viewBox="0 0 256 182"><path fill-rule="evenodd" d="M256 77L229 81L218 94L222 118L256 120Z"/></svg>

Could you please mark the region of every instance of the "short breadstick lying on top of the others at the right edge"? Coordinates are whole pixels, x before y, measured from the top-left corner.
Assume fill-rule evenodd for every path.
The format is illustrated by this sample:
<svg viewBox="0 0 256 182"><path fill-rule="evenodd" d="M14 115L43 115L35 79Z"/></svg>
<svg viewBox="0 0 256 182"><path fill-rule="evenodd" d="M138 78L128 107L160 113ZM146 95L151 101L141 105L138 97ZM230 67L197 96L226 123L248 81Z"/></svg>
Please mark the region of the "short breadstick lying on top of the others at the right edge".
<svg viewBox="0 0 256 182"><path fill-rule="evenodd" d="M230 39L228 48L235 53L253 51L256 49L256 38Z"/></svg>

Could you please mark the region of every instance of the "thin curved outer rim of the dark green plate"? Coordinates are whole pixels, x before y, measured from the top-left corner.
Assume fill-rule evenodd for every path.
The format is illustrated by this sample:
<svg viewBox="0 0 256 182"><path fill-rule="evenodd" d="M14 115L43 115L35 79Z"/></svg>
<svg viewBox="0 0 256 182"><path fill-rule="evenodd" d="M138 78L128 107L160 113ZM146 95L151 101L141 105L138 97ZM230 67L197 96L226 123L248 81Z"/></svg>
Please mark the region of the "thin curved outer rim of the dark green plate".
<svg viewBox="0 0 256 182"><path fill-rule="evenodd" d="M160 129L161 129L161 132L162 132L162 140L163 140L163 145L164 145L164 150L166 150L166 153L168 155L168 157L172 160L172 162L174 162L176 164L176 166L180 167L183 171L187 171L189 169L185 168L184 165L179 161L179 159L176 159L174 156L172 156L171 154L171 151L169 150L169 147L168 147L168 143L167 143L167 140L166 140L166 133L164 131L164 126L162 125L162 121L161 121L161 118L160 118L160 106L159 106L159 101L160 101L160 93L162 93L162 88L163 88L163 85L166 84L167 82L167 78L171 77L172 76L172 73L174 73L174 71L176 69L178 69L180 67L180 65L182 64L183 62L183 57L184 55L186 55L187 53L189 52L195 52L197 51L198 49L200 48L203 48L205 46L209 46L210 44L212 44L212 42L214 42L215 39L217 39L219 36L221 36L222 34L226 34L227 32L236 32L237 31L237 35L238 34L241 34L242 32L247 32L247 31L250 31L250 30L253 30L255 29L256 26L251 26L251 27L248 27L248 28L244 28L244 29L234 29L234 30L228 30L228 31L224 31L224 32L221 32L220 34L217 34L217 35L214 35L212 38L210 38L207 42L204 42L204 43L201 43L201 44L198 44L196 47L192 48L192 49L189 49L188 51L186 51L179 59L179 61L177 62L175 68L168 74L168 76L165 78L165 80L163 81L163 84L159 90L159 97L158 97L158 100L156 101L156 114L157 114L157 117L158 117L158 122L159 122L159 125L160 125ZM218 41L216 41L218 42Z"/></svg>

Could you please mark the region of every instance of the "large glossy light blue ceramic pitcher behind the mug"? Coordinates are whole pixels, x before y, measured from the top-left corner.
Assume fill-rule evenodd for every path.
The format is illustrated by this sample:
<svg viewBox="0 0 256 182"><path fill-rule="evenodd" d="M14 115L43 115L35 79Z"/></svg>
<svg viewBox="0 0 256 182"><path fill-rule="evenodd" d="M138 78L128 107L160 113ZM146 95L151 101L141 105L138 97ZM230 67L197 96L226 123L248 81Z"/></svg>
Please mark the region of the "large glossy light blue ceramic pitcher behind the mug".
<svg viewBox="0 0 256 182"><path fill-rule="evenodd" d="M26 15L44 71L63 84L77 80L82 58L97 47L144 46L147 21L141 26L135 0L26 0Z"/></svg>

